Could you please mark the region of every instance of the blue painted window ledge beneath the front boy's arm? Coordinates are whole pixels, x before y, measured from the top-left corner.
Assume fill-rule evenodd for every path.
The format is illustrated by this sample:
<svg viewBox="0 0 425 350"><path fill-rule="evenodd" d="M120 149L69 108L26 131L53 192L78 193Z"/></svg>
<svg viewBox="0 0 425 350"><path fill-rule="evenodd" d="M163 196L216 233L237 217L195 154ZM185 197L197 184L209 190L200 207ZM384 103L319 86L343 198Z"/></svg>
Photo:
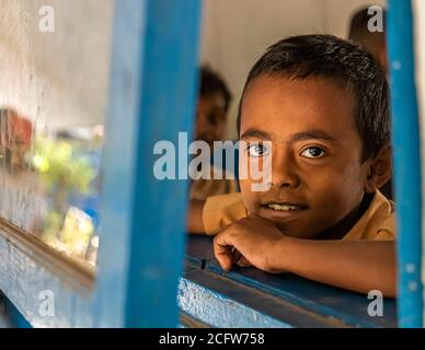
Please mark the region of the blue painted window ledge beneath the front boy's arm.
<svg viewBox="0 0 425 350"><path fill-rule="evenodd" d="M383 300L383 316L368 315L372 300L290 273L255 268L223 271L213 240L189 236L179 288L186 327L397 327L397 306ZM349 278L349 277L348 277Z"/></svg>

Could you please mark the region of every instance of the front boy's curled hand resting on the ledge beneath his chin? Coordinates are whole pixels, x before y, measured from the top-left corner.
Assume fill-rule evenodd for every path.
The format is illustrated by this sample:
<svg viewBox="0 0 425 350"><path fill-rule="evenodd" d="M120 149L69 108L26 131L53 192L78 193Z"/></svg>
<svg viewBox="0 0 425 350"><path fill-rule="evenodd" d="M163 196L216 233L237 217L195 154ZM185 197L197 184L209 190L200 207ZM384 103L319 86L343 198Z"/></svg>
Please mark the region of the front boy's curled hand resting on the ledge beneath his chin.
<svg viewBox="0 0 425 350"><path fill-rule="evenodd" d="M214 240L214 253L225 270L233 264L253 265L266 272L282 272L269 264L276 245L285 238L284 234L269 220L248 217L221 231Z"/></svg>

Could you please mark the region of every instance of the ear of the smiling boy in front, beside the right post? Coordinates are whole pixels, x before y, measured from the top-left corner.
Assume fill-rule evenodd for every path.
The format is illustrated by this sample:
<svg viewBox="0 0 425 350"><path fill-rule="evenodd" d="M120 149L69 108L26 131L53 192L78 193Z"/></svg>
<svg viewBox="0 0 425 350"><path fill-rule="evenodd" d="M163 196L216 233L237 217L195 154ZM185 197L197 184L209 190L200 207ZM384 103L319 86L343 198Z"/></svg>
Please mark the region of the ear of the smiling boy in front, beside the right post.
<svg viewBox="0 0 425 350"><path fill-rule="evenodd" d="M388 144L379 154L369 161L368 175L365 182L365 191L372 194L381 188L392 176L391 147Z"/></svg>

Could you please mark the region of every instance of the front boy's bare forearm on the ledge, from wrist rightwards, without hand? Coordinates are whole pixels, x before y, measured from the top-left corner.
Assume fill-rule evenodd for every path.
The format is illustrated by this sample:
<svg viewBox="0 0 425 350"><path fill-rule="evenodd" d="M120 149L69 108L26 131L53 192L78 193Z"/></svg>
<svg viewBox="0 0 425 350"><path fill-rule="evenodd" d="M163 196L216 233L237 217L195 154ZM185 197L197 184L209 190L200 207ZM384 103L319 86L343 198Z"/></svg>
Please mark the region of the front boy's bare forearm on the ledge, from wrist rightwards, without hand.
<svg viewBox="0 0 425 350"><path fill-rule="evenodd" d="M269 265L318 282L359 293L379 290L395 296L393 241L310 241L285 237Z"/></svg>

